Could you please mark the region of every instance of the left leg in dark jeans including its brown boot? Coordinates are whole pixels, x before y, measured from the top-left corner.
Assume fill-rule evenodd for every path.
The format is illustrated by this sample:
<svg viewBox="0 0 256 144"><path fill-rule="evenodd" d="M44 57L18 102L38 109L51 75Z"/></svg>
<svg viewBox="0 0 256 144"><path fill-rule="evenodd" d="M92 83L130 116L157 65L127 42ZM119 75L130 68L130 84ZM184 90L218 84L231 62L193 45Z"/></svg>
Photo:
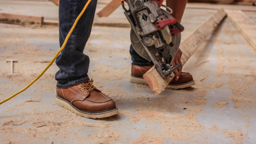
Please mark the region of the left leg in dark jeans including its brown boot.
<svg viewBox="0 0 256 144"><path fill-rule="evenodd" d="M60 0L60 46L86 2L87 0ZM110 117L118 113L115 102L98 90L87 75L90 59L83 51L91 34L96 4L97 0L91 0L56 59L59 67L55 75L58 81L56 104L87 118Z"/></svg>

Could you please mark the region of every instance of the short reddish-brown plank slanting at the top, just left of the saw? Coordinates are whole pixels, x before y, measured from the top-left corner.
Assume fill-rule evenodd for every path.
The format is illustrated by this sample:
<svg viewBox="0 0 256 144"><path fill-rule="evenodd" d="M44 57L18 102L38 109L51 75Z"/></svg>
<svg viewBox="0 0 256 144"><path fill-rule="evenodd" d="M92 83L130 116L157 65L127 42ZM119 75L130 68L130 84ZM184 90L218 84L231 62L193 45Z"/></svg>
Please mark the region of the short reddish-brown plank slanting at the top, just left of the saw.
<svg viewBox="0 0 256 144"><path fill-rule="evenodd" d="M121 5L122 0L112 0L109 4L107 4L100 12L97 13L100 17L107 17L113 11L117 9L119 5Z"/></svg>

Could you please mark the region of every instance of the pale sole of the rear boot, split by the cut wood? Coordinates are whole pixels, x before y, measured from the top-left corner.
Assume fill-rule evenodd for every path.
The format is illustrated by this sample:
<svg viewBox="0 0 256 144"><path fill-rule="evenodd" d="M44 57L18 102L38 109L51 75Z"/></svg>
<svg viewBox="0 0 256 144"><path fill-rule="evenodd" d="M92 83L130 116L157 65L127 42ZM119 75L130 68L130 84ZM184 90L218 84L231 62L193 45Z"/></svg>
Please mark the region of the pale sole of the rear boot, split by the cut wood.
<svg viewBox="0 0 256 144"><path fill-rule="evenodd" d="M141 77L136 77L136 76L133 76L133 75L130 76L130 82L135 83L135 84L148 85L146 80L144 80ZM183 88L187 88L187 87L192 86L192 85L196 85L194 80L191 80L187 83L180 84L180 85L167 85L166 88L168 88L168 89L183 89Z"/></svg>

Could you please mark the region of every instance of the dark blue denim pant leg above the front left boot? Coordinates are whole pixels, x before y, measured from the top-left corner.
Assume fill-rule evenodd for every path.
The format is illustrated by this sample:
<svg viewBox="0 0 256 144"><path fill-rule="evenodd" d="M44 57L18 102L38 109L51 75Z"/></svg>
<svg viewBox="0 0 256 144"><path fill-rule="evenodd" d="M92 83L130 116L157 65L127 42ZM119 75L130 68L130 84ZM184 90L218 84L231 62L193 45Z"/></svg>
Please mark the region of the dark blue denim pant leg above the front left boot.
<svg viewBox="0 0 256 144"><path fill-rule="evenodd" d="M75 19L84 8L87 0L59 1L59 44L60 47L73 26ZM87 72L90 59L83 53L90 37L97 0L92 0L80 17L69 40L56 59L59 71L55 75L58 88L66 88L90 80Z"/></svg>

